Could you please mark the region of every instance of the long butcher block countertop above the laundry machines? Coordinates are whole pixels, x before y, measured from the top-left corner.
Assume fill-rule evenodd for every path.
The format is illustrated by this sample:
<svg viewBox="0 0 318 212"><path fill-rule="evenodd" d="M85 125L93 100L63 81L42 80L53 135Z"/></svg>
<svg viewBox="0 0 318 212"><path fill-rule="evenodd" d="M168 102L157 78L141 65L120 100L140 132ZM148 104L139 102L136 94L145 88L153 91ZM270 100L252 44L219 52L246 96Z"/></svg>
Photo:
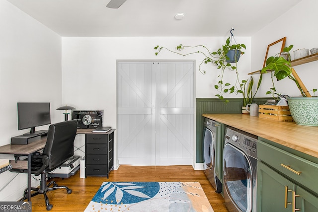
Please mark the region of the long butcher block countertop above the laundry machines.
<svg viewBox="0 0 318 212"><path fill-rule="evenodd" d="M203 114L202 116L318 158L318 127L262 119L247 114Z"/></svg>

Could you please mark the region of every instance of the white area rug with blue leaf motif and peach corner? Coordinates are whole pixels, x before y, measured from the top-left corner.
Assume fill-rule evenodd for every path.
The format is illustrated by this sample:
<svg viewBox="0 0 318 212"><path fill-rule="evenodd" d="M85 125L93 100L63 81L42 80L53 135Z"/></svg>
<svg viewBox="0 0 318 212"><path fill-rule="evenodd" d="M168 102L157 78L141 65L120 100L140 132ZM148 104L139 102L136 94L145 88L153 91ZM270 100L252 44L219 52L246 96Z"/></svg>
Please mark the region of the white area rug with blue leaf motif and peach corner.
<svg viewBox="0 0 318 212"><path fill-rule="evenodd" d="M84 212L214 212L198 182L103 182Z"/></svg>

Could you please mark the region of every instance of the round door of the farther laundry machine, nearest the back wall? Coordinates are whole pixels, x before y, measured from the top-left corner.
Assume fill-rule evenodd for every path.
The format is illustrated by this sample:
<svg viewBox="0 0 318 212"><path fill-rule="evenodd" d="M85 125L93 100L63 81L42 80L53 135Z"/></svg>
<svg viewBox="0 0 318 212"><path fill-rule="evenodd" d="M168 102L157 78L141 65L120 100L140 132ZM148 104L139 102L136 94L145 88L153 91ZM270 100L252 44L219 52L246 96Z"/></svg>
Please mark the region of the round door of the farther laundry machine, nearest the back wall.
<svg viewBox="0 0 318 212"><path fill-rule="evenodd" d="M215 143L212 131L204 128L203 131L203 159L204 169L212 169L214 165Z"/></svg>

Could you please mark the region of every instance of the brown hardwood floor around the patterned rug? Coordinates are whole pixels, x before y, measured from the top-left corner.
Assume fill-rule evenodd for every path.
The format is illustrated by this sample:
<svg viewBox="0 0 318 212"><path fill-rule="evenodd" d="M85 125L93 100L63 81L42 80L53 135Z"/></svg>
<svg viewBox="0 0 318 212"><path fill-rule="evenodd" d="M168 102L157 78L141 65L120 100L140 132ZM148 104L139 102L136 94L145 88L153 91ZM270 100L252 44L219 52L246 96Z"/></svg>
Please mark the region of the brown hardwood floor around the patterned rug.
<svg viewBox="0 0 318 212"><path fill-rule="evenodd" d="M53 179L51 179L53 180ZM195 171L192 166L130 166L120 165L118 170L110 172L106 177L79 178L79 171L70 178L54 178L58 185L65 185L72 189L67 194L65 189L48 192L52 212L82 212L105 181L151 182L151 181L184 181L199 182L209 199L215 212L228 212L221 194L215 193L214 188L206 178L203 171ZM50 180L49 180L50 181ZM46 211L43 195L31 198L32 212Z"/></svg>

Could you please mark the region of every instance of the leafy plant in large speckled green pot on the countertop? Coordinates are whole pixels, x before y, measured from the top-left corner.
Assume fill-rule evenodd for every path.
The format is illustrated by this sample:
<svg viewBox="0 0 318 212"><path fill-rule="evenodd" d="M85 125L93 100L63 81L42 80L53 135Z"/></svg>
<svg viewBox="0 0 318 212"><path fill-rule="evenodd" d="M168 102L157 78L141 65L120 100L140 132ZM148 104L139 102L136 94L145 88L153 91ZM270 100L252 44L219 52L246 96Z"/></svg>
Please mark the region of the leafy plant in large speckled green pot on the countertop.
<svg viewBox="0 0 318 212"><path fill-rule="evenodd" d="M283 50L283 52L287 52L288 54L287 59L281 57L280 53L268 58L266 66L261 70L261 73L273 71L272 76L276 77L278 81L286 77L293 80L302 95L302 97L287 98L294 121L299 125L318 126L318 97L312 97L310 91L307 90L296 71L292 68L289 53L292 48L293 45L290 45ZM276 92L274 85L271 91ZM315 95L317 89L312 89L312 91Z"/></svg>

